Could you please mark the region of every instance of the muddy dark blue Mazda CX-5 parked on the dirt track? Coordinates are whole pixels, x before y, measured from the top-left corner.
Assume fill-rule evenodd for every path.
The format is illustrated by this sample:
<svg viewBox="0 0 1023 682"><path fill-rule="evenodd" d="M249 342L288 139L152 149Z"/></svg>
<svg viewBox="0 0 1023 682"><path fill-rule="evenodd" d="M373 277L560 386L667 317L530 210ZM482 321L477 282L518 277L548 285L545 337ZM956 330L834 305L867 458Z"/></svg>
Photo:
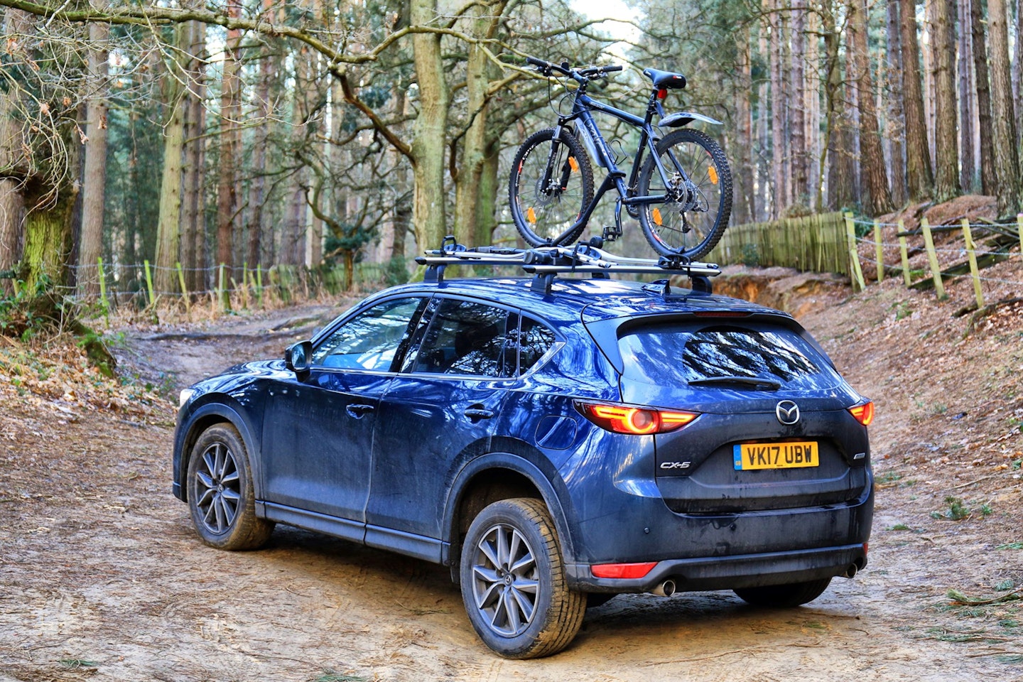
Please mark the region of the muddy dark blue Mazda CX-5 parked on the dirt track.
<svg viewBox="0 0 1023 682"><path fill-rule="evenodd" d="M615 594L806 603L866 564L853 391L789 315L608 279L407 284L283 360L182 392L199 538L286 524L451 566L497 653L555 653Z"/></svg>

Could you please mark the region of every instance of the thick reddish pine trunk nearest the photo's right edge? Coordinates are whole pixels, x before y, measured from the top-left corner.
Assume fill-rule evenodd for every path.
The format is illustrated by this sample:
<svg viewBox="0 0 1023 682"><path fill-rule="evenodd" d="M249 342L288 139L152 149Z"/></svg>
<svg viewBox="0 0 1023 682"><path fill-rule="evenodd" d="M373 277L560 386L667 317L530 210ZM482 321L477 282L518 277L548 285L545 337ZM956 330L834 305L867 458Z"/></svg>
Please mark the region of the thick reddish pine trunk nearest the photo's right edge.
<svg viewBox="0 0 1023 682"><path fill-rule="evenodd" d="M991 63L991 103L994 115L994 170L998 179L995 195L998 215L1015 214L1020 209L1019 150L1016 140L1016 113L1013 107L1012 79L1009 64L1008 7L1005 0L988 0L987 26Z"/></svg>

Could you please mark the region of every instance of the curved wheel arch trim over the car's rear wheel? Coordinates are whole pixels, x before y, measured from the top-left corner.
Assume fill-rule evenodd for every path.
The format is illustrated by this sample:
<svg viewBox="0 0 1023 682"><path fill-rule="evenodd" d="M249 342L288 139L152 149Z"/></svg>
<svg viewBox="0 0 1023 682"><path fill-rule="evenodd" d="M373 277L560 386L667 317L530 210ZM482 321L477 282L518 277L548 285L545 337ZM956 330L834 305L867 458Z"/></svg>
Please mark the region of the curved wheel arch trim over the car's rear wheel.
<svg viewBox="0 0 1023 682"><path fill-rule="evenodd" d="M558 494L555 484L535 463L521 455L497 452L471 461L451 487L444 509L442 562L452 566L452 578L457 574L461 539L476 515L488 504L516 497L543 501L558 531L563 560L574 560L569 516L562 505L564 495Z"/></svg>

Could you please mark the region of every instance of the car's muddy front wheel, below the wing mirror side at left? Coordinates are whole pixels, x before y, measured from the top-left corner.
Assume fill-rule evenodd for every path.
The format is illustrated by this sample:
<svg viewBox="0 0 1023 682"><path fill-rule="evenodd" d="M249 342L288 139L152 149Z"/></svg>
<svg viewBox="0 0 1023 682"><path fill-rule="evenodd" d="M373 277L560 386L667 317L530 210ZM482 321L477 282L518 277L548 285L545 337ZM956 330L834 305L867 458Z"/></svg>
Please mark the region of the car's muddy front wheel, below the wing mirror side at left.
<svg viewBox="0 0 1023 682"><path fill-rule="evenodd" d="M257 549L273 524L256 516L249 453L241 436L226 423L210 426L192 447L187 473L188 509L195 532L219 549Z"/></svg>

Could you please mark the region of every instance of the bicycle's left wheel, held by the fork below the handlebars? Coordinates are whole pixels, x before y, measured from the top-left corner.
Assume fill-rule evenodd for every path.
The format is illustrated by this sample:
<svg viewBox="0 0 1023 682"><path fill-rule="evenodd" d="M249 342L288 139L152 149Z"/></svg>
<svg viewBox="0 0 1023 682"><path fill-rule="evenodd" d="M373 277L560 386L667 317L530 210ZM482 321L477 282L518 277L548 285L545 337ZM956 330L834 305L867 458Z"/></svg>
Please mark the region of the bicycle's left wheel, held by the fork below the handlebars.
<svg viewBox="0 0 1023 682"><path fill-rule="evenodd" d="M548 162L551 174L544 182ZM564 245L578 239L585 225L555 241L575 225L592 198L593 169L575 135L547 128L530 135L519 147L508 178L508 204L516 228L531 246Z"/></svg>

